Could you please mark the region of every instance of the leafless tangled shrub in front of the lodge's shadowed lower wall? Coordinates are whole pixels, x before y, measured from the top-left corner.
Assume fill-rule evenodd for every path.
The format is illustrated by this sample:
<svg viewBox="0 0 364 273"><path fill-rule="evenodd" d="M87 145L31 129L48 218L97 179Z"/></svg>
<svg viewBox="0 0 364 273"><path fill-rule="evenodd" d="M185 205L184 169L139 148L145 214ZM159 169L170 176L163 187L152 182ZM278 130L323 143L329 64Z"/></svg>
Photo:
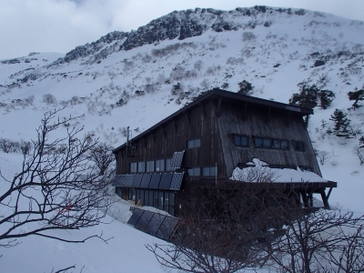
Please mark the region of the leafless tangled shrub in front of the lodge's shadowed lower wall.
<svg viewBox="0 0 364 273"><path fill-rule="evenodd" d="M200 183L198 183L200 184ZM147 246L165 268L186 272L237 272L261 268L264 251L284 224L278 199L296 204L282 189L262 183L221 183L193 188L170 244ZM262 188L263 187L263 188ZM179 201L178 201L179 202Z"/></svg>

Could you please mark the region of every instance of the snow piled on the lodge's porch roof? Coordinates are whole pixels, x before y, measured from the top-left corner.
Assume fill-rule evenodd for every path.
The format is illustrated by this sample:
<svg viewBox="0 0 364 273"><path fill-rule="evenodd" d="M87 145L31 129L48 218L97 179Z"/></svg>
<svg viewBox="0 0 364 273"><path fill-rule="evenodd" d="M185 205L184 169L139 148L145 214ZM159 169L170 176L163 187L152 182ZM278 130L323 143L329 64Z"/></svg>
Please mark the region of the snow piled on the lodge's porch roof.
<svg viewBox="0 0 364 273"><path fill-rule="evenodd" d="M308 171L301 171L290 168L270 168L266 162L254 158L253 162L248 162L245 168L235 168L230 177L231 180L244 182L328 182L328 180L319 177L317 174Z"/></svg>

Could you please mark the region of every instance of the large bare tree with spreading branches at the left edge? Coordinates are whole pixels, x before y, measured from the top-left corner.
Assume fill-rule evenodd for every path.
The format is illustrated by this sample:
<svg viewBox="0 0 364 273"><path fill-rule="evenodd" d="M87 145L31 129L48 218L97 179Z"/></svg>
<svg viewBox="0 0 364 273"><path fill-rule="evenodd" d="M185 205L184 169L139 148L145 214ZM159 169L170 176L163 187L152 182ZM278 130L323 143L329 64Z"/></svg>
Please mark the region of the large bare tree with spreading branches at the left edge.
<svg viewBox="0 0 364 273"><path fill-rule="evenodd" d="M45 114L37 139L30 152L24 153L20 172L12 179L0 173L5 179L0 195L0 207L4 208L0 247L15 246L18 238L30 235L85 242L87 238L69 240L48 231L92 227L106 215L110 205L106 183L87 157L97 140L79 136L83 127L68 126L77 117L56 118L58 113ZM64 136L55 137L62 128Z"/></svg>

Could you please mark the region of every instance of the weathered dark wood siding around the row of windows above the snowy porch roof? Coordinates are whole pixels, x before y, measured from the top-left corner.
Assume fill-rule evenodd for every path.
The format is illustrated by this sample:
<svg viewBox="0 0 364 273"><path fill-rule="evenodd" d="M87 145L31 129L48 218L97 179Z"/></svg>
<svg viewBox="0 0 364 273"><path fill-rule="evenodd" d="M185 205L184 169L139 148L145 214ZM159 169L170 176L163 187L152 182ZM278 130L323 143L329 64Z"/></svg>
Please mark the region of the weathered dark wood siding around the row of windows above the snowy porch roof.
<svg viewBox="0 0 364 273"><path fill-rule="evenodd" d="M269 111L268 107L257 109L253 106L248 105L246 116L243 118L242 106L222 103L217 124L227 177L231 176L235 167L246 164L253 158L265 161L269 165L312 167L315 173L321 175L302 117L294 112L289 116L288 111ZM236 147L235 135L248 136L249 147ZM289 150L256 148L254 136L287 139ZM304 142L305 151L294 151L292 141Z"/></svg>

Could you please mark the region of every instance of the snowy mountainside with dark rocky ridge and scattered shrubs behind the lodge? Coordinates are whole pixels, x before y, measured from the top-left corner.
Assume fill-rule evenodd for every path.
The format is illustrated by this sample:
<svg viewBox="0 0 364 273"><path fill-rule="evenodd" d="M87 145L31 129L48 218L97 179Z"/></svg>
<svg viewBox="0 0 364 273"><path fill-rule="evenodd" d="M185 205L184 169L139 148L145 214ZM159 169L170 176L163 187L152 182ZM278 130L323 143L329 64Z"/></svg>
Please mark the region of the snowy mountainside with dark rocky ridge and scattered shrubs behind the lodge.
<svg viewBox="0 0 364 273"><path fill-rule="evenodd" d="M352 153L356 138L326 133L336 108L364 123L348 92L364 84L364 22L308 10L256 6L233 11L173 12L130 33L113 32L60 54L0 61L0 137L35 137L43 113L83 115L79 125L115 147L213 87L288 103L299 83L331 90L327 109L315 107L308 132L328 153L323 177L339 182L330 204L362 211L364 169ZM315 66L316 61L323 66ZM323 120L323 122L322 122ZM364 130L364 126L362 126Z"/></svg>

